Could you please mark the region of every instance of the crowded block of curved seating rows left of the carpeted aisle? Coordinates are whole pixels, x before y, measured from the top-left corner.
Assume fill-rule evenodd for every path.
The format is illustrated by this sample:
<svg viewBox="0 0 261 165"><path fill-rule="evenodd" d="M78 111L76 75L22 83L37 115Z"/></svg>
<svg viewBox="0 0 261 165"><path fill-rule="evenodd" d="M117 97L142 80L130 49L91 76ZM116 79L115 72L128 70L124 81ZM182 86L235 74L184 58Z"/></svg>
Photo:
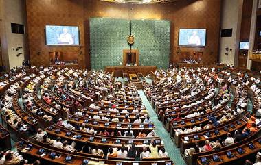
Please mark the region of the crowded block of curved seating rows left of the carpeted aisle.
<svg viewBox="0 0 261 165"><path fill-rule="evenodd" d="M155 154L164 153L164 144L135 86L67 68L33 67L13 76L1 88L1 118L28 160L173 164Z"/></svg>

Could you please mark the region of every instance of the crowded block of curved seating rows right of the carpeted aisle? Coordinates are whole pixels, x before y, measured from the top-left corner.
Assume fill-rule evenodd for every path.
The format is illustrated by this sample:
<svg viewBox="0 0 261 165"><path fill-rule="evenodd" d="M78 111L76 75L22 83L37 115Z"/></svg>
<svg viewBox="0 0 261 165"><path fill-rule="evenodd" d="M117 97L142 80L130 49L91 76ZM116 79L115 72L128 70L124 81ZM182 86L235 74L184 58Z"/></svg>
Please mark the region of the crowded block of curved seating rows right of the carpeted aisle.
<svg viewBox="0 0 261 165"><path fill-rule="evenodd" d="M156 71L150 77L146 96L187 164L243 164L256 157L260 74L198 66Z"/></svg>

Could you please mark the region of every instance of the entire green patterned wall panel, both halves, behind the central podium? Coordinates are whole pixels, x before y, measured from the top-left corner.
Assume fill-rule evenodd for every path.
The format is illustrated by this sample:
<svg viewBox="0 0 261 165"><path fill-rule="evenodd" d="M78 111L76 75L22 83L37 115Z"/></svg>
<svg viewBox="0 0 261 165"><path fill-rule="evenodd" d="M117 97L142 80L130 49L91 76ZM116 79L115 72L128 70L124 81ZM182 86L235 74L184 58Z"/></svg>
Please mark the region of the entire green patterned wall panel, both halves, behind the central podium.
<svg viewBox="0 0 261 165"><path fill-rule="evenodd" d="M170 55L170 21L90 19L91 68L117 66L122 62L122 50L130 49L126 38L132 34L139 49L139 65L167 68Z"/></svg>

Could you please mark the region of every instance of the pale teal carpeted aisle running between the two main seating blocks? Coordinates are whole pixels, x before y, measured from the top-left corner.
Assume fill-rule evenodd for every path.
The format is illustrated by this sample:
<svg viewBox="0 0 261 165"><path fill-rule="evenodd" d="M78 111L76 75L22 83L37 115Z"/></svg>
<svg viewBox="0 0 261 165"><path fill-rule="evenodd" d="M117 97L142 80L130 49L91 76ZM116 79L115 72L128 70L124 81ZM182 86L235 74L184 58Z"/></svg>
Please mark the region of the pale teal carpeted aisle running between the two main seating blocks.
<svg viewBox="0 0 261 165"><path fill-rule="evenodd" d="M170 157L170 160L173 161L174 165L185 165L185 161L181 157L180 150L177 148L177 146L172 142L170 138L170 133L166 131L166 129L163 127L161 121L158 120L157 114L153 110L153 107L150 105L150 102L148 101L147 97L145 96L144 92L142 90L138 90L140 97L142 99L143 105L148 110L148 114L150 116L150 119L155 125L155 131L157 136L161 138L164 142L164 146L166 151L168 152L168 155Z"/></svg>

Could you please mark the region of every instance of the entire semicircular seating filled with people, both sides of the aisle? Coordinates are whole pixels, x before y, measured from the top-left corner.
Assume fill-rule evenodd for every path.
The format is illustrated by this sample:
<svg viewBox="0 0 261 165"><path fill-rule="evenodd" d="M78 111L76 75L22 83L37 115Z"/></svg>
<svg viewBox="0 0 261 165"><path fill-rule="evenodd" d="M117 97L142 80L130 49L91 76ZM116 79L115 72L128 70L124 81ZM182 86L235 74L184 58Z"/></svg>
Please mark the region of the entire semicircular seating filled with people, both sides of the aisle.
<svg viewBox="0 0 261 165"><path fill-rule="evenodd" d="M186 164L236 164L260 151L259 74L197 66L150 79L143 91ZM12 136L21 156L47 164L173 164L136 86L123 83L73 68L6 74L1 147Z"/></svg>

